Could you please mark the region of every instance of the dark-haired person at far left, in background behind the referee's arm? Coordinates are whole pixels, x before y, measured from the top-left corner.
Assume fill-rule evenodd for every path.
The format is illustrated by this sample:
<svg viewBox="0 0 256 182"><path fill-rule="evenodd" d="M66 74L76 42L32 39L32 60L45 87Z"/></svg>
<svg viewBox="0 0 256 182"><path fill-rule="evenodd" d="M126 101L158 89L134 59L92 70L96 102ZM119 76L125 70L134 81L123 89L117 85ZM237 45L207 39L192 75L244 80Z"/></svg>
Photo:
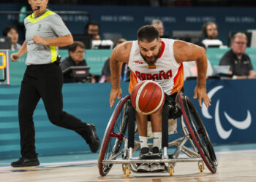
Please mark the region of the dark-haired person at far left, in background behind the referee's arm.
<svg viewBox="0 0 256 182"><path fill-rule="evenodd" d="M12 39L12 48L11 50L20 50L21 45L18 44L19 34L15 26L7 26L3 30L3 36L10 37Z"/></svg>

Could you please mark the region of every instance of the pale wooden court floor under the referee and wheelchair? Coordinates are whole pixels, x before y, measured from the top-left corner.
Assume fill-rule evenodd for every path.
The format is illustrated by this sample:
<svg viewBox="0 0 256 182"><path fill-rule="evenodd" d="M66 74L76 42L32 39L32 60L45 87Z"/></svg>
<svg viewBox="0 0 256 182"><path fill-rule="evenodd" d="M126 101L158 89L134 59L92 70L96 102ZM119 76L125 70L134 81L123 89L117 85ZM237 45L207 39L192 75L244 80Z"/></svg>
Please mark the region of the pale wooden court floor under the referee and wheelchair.
<svg viewBox="0 0 256 182"><path fill-rule="evenodd" d="M256 151L217 153L217 173L203 173L197 162L177 163L173 176L168 173L135 174L126 177L121 165L114 165L108 175L99 175L97 161L41 164L39 167L0 167L0 181L256 181Z"/></svg>

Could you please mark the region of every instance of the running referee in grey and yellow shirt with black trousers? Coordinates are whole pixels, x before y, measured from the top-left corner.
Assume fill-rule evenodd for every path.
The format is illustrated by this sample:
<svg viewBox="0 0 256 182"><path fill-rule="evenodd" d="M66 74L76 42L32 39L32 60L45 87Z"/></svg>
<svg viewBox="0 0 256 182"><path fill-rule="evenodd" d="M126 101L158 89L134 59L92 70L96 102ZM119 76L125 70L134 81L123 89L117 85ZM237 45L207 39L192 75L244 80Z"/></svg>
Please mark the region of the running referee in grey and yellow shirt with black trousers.
<svg viewBox="0 0 256 182"><path fill-rule="evenodd" d="M29 0L29 4L34 13L24 20L26 40L19 52L11 55L11 60L17 61L28 53L18 101L21 158L12 162L12 167L39 165L34 145L33 113L40 98L50 122L80 134L92 152L99 149L94 124L81 122L62 110L63 76L57 60L57 47L72 44L72 35L61 17L47 9L48 0Z"/></svg>

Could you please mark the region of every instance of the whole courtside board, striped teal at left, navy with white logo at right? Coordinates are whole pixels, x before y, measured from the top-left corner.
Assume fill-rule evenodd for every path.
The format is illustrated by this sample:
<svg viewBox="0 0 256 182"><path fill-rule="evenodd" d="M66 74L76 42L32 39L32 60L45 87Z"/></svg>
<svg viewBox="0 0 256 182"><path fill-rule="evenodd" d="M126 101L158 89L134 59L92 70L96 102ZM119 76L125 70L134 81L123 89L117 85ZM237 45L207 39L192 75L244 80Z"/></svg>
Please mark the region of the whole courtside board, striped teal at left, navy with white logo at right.
<svg viewBox="0 0 256 182"><path fill-rule="evenodd" d="M209 108L193 99L195 81L186 81L185 95L191 98L215 145L256 143L256 79L208 80ZM84 122L94 123L102 140L113 112L109 107L111 84L64 84L64 111ZM128 83L121 83L122 97L128 95ZM20 155L18 94L20 86L1 86L0 90L0 158ZM116 103L118 100L116 100ZM56 127L48 120L42 100L34 111L36 147L40 155L89 152L83 138L75 132Z"/></svg>

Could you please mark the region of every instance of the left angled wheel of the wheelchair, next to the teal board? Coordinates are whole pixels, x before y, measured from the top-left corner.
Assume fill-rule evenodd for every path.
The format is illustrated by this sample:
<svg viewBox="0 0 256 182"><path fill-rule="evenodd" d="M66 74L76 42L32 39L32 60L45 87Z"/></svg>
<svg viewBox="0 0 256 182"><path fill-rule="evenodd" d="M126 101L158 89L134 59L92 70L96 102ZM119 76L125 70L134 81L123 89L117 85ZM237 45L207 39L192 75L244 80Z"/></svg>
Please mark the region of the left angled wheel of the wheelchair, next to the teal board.
<svg viewBox="0 0 256 182"><path fill-rule="evenodd" d="M102 176L107 175L113 166L113 164L103 164L102 161L116 159L123 154L123 152L120 153L119 151L121 151L124 135L127 131L128 108L129 95L118 102L106 127L98 157L99 174Z"/></svg>

